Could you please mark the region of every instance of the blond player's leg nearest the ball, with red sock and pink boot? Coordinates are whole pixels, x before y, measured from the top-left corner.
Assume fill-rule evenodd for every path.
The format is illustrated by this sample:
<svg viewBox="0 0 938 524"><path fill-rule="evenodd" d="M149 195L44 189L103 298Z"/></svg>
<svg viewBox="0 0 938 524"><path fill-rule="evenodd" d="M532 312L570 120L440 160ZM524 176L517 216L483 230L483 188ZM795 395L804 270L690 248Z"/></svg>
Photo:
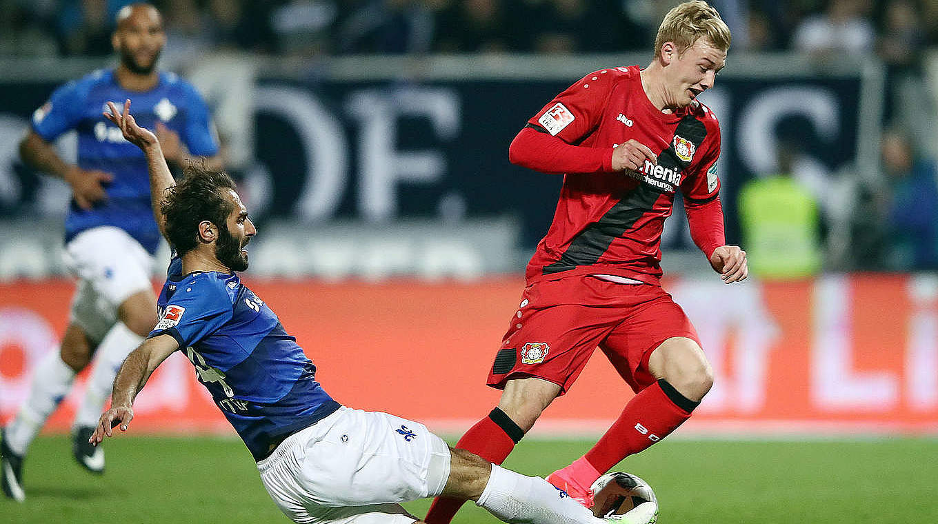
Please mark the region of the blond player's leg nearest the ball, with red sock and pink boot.
<svg viewBox="0 0 938 524"><path fill-rule="evenodd" d="M712 386L713 372L696 331L670 295L660 293L600 345L638 394L583 457L548 477L555 486L588 499L602 473L671 434Z"/></svg>

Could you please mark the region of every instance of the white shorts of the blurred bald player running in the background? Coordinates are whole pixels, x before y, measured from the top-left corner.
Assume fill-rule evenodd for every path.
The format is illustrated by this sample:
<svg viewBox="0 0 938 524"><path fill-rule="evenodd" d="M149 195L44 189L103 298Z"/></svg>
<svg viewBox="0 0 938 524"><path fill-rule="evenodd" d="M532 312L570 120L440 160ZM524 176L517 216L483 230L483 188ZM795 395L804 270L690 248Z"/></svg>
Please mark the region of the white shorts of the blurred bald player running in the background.
<svg viewBox="0 0 938 524"><path fill-rule="evenodd" d="M128 232L113 226L75 235L66 245L66 263L79 277L70 320L95 342L117 321L121 303L152 286L153 256Z"/></svg>

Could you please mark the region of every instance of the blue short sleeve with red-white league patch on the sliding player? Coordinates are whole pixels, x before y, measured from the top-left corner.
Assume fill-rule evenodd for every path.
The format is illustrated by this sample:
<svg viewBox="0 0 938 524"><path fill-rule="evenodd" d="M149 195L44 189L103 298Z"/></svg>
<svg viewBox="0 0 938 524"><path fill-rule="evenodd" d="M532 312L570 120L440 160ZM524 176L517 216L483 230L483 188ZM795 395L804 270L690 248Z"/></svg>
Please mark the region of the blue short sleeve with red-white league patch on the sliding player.
<svg viewBox="0 0 938 524"><path fill-rule="evenodd" d="M148 338L172 335L180 348L187 348L230 321L233 311L224 289L206 279L196 279L179 286Z"/></svg>

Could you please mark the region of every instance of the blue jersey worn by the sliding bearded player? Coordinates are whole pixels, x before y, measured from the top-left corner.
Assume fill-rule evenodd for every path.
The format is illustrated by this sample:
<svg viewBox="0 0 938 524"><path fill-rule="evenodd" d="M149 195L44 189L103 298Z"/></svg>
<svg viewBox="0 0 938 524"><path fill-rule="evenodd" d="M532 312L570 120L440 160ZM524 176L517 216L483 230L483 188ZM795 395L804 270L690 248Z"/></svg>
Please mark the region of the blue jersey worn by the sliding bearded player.
<svg viewBox="0 0 938 524"><path fill-rule="evenodd" d="M178 258L159 293L149 337L171 335L255 460L339 409L277 315L235 274L182 275Z"/></svg>

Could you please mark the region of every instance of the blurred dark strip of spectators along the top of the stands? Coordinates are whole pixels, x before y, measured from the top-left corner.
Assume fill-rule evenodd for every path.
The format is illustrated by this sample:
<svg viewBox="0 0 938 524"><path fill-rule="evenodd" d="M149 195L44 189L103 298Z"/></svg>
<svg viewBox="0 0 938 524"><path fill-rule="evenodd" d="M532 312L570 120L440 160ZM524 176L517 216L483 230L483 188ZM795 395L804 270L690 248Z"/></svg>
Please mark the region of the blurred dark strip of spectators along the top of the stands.
<svg viewBox="0 0 938 524"><path fill-rule="evenodd" d="M0 54L105 55L129 0L0 0ZM644 50L676 2L156 0L190 46L276 54ZM879 52L895 67L938 38L938 0L713 0L734 51ZM910 52L912 50L913 52Z"/></svg>

